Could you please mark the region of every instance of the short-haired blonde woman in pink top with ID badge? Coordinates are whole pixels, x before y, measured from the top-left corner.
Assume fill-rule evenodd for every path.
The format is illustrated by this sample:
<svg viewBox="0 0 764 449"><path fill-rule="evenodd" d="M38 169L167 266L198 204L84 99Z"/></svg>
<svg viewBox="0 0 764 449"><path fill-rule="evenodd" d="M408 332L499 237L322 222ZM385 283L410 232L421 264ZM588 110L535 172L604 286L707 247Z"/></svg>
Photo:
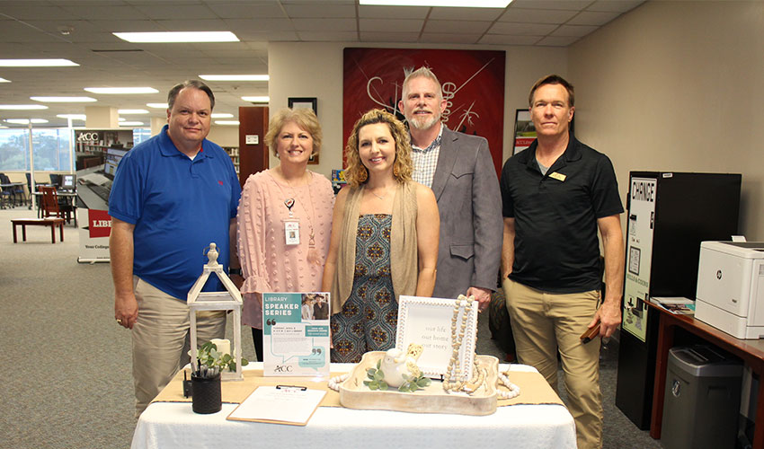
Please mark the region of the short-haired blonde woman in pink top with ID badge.
<svg viewBox="0 0 764 449"><path fill-rule="evenodd" d="M262 293L318 292L332 233L332 183L307 170L321 149L312 110L283 109L268 125L265 144L280 159L247 179L236 218L242 263L242 322L251 326L262 361Z"/></svg>

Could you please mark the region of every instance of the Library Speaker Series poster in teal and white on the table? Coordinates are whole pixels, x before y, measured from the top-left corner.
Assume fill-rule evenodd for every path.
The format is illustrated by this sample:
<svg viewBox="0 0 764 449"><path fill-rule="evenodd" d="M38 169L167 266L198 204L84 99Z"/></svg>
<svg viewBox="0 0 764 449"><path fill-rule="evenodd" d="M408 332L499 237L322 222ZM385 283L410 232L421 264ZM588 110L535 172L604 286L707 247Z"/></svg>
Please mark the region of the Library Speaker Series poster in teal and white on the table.
<svg viewBox="0 0 764 449"><path fill-rule="evenodd" d="M264 375L329 375L328 293L262 294Z"/></svg>

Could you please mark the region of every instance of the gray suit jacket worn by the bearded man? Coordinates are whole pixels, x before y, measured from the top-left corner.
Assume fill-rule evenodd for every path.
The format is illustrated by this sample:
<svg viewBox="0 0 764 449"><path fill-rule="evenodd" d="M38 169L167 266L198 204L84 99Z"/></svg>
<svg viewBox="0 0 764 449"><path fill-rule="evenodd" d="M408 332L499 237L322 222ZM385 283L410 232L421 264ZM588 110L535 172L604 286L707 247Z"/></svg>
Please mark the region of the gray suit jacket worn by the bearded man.
<svg viewBox="0 0 764 449"><path fill-rule="evenodd" d="M470 286L496 289L502 256L502 194L484 137L443 129L432 180L440 211L434 297Z"/></svg>

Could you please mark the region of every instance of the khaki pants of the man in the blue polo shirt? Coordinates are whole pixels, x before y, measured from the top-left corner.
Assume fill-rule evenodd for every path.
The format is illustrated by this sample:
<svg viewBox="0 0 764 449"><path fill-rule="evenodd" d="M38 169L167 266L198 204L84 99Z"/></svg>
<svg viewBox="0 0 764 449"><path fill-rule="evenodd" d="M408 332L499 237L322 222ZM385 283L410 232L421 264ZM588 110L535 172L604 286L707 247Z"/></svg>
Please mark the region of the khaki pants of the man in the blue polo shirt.
<svg viewBox="0 0 764 449"><path fill-rule="evenodd" d="M189 307L137 276L133 288L138 300L138 321L133 326L133 382L136 418L164 389L182 366L189 363ZM226 312L197 313L197 345L226 335Z"/></svg>

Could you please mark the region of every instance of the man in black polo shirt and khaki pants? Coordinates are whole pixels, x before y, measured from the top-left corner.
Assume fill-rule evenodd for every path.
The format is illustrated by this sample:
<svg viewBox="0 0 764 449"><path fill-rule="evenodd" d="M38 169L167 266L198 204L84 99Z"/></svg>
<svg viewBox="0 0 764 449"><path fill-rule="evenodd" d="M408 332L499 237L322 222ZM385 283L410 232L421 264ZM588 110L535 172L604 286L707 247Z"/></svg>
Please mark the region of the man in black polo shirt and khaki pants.
<svg viewBox="0 0 764 449"><path fill-rule="evenodd" d="M621 322L624 211L608 156L570 133L573 85L561 76L537 81L529 95L537 140L502 169L502 286L521 363L557 386L557 351L580 449L602 445L600 326ZM600 298L600 244L606 295ZM600 301L601 300L601 301Z"/></svg>

